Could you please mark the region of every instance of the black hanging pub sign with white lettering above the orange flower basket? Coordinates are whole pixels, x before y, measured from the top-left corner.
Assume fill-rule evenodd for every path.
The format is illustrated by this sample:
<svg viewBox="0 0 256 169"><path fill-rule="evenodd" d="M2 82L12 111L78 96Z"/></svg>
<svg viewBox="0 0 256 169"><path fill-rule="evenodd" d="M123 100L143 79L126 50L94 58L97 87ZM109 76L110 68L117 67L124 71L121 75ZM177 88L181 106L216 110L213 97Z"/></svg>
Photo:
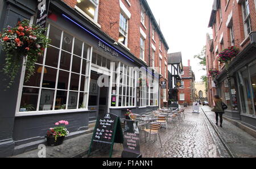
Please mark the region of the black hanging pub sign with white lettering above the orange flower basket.
<svg viewBox="0 0 256 169"><path fill-rule="evenodd" d="M38 0L38 15L36 16L36 24L42 28L46 27L49 1L50 0Z"/></svg>

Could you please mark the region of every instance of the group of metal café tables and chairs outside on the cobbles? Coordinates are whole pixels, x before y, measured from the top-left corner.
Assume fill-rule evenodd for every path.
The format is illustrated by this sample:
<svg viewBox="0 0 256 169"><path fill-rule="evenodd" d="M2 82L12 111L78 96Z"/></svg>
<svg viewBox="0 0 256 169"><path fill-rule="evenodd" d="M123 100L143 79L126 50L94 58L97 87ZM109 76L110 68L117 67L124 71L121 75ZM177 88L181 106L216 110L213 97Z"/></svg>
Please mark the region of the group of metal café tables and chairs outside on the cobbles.
<svg viewBox="0 0 256 169"><path fill-rule="evenodd" d="M168 134L168 129L177 129L180 121L185 119L185 108L158 108L156 111L146 111L140 115L131 113L129 115L130 120L138 122L138 128L140 133L141 143L147 142L147 138L151 141L151 135L154 135L154 142L158 140L162 147L160 130L166 130L165 133ZM123 120L121 120L122 128Z"/></svg>

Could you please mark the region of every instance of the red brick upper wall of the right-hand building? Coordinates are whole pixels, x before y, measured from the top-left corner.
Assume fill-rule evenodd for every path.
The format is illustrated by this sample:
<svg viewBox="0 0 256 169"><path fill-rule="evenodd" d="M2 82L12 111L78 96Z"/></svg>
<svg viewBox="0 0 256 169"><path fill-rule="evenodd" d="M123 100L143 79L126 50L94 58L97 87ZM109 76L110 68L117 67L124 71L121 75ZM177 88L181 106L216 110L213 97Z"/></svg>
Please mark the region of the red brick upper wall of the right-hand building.
<svg viewBox="0 0 256 169"><path fill-rule="evenodd" d="M250 10L250 21L251 21L251 29L252 31L256 31L256 11L255 11L255 1L249 0L249 10ZM222 24L220 26L220 10L218 9L216 14L217 20L217 32L215 32L215 24L213 24L213 51L214 56L210 53L209 49L209 41L207 40L207 50L206 56L207 57L207 71L209 68L216 68L218 69L219 62L216 58L215 49L218 45L218 52L221 51L221 44L220 44L220 36L223 32L223 41L224 41L224 48L228 48L231 46L230 44L230 31L229 28L226 27L226 22L228 20L228 15L232 11L232 20L233 20L233 28L234 28L234 44L236 47L243 50L249 43L249 39L245 40L245 33L243 28L243 16L242 16L242 5L238 4L236 0L230 0L228 5L226 5L225 1L221 1L221 11L222 11ZM219 27L220 26L220 27ZM243 43L243 41L245 43ZM243 43L243 44L242 44ZM220 70L221 71L221 70ZM213 96L216 95L216 88L212 87L211 85L212 79L208 78L208 96L209 96L209 104L213 104ZM212 97L210 97L212 96Z"/></svg>

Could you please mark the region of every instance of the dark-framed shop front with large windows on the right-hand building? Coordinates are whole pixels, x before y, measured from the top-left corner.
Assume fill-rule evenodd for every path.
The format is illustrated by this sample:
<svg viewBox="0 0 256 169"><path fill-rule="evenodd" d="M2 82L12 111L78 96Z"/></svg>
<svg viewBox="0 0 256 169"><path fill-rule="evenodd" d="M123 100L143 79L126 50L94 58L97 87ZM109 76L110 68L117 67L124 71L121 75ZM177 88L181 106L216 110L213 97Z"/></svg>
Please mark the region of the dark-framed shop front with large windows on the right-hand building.
<svg viewBox="0 0 256 169"><path fill-rule="evenodd" d="M240 54L217 78L218 95L228 105L224 116L241 120L256 129L256 48L253 43Z"/></svg>

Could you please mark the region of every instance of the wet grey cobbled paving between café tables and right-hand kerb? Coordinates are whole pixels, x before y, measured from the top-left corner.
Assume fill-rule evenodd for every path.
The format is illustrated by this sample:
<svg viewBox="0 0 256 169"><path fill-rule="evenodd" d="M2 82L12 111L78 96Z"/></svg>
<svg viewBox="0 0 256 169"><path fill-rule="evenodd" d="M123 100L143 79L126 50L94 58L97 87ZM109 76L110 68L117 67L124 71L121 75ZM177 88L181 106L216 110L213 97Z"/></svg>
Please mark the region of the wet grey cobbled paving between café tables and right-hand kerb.
<svg viewBox="0 0 256 169"><path fill-rule="evenodd" d="M214 133L209 121L205 120L203 112L191 113L191 107L185 110L185 119L177 121L177 128L173 124L166 129L160 129L160 138L154 142L154 136L141 140L141 153L144 158L204 158L204 157L230 157L219 138ZM113 158L121 157L122 145L115 144ZM90 157L109 157L108 154L96 153Z"/></svg>

